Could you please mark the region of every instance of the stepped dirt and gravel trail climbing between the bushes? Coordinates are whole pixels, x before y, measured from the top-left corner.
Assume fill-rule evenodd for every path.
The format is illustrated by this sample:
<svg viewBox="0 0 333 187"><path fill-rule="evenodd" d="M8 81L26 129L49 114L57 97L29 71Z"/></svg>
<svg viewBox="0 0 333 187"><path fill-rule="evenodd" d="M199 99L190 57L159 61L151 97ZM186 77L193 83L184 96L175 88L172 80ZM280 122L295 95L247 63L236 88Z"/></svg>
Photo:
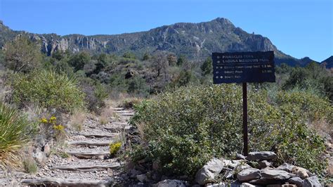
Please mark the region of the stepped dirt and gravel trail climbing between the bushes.
<svg viewBox="0 0 333 187"><path fill-rule="evenodd" d="M110 157L109 144L117 141L122 133L129 129L128 120L133 116L133 111L124 108L112 108L112 110L116 112L117 120L115 117L110 117L107 124L100 124L97 119L87 119L82 131L69 132L66 146L55 150L57 153L51 154L37 174L16 173L16 180L23 186L115 184L120 180L117 175L124 163L117 157ZM7 185L11 186L13 183Z"/></svg>

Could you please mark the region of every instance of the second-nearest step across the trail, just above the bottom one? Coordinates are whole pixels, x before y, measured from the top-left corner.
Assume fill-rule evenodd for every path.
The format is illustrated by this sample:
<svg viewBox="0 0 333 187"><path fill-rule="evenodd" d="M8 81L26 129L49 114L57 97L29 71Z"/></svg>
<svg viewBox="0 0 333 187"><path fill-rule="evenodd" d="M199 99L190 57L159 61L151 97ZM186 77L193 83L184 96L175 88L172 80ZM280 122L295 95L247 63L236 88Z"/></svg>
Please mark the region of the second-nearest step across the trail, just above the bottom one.
<svg viewBox="0 0 333 187"><path fill-rule="evenodd" d="M89 172L94 170L102 170L102 169L116 169L119 168L120 164L115 163L112 165L63 165L63 166L55 166L51 169L58 169L58 170L67 170L67 171L82 171L88 170Z"/></svg>

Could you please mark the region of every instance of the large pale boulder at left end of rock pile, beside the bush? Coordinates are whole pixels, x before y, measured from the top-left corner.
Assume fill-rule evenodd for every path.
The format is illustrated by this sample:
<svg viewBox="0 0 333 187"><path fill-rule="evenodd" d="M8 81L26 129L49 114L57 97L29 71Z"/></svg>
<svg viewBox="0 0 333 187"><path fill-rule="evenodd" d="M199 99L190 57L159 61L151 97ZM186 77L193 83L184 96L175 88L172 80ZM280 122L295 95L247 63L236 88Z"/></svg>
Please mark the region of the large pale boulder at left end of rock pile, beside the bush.
<svg viewBox="0 0 333 187"><path fill-rule="evenodd" d="M223 167L223 161L214 157L209 160L209 162L207 162L204 167L197 171L197 174L195 174L195 181L200 185L212 182L214 181L215 177L221 172Z"/></svg>

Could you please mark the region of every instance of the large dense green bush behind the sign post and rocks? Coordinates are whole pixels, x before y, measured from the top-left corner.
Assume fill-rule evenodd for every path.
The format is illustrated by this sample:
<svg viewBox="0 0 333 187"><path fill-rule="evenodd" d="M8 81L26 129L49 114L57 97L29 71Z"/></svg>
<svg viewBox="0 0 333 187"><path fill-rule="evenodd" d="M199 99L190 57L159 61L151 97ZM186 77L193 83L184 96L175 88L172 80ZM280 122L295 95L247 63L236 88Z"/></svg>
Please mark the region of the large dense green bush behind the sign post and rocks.
<svg viewBox="0 0 333 187"><path fill-rule="evenodd" d="M329 103L316 96L285 92L276 96L277 103L270 103L266 91L250 90L248 94L249 150L273 150L281 163L320 174L325 168L325 162L318 160L325 150L324 141L306 124L318 119L311 110L325 108L320 118L328 120ZM294 105L304 99L306 107ZM316 100L318 103L312 103ZM144 101L135 109L131 123L140 124L143 145L133 150L133 160L150 157L161 163L163 172L194 176L213 156L231 158L242 153L240 86L181 88Z"/></svg>

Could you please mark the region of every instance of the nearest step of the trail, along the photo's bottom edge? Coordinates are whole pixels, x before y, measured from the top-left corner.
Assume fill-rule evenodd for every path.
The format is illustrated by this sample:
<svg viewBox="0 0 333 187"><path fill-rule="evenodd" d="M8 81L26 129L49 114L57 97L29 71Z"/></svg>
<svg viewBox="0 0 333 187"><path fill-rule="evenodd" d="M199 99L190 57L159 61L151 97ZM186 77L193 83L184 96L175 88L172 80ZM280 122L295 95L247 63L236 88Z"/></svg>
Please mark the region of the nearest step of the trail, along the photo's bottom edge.
<svg viewBox="0 0 333 187"><path fill-rule="evenodd" d="M42 179L23 179L20 182L25 186L112 186L113 181L106 180L74 180L74 179L55 179L55 178L42 178Z"/></svg>

